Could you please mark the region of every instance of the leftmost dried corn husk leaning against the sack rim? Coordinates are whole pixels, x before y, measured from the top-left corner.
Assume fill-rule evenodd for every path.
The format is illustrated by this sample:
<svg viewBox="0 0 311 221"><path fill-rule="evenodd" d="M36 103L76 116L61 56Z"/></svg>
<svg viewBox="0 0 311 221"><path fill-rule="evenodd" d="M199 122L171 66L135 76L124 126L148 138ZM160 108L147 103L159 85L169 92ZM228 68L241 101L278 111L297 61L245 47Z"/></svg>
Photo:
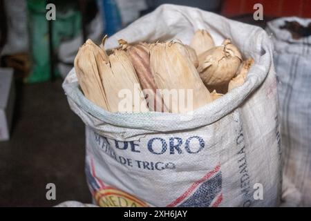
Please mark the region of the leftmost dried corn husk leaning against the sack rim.
<svg viewBox="0 0 311 221"><path fill-rule="evenodd" d="M75 73L82 91L91 102L109 111L106 94L100 78L100 70L97 66L97 59L105 62L108 56L88 39L86 43L79 48L75 57Z"/></svg>

